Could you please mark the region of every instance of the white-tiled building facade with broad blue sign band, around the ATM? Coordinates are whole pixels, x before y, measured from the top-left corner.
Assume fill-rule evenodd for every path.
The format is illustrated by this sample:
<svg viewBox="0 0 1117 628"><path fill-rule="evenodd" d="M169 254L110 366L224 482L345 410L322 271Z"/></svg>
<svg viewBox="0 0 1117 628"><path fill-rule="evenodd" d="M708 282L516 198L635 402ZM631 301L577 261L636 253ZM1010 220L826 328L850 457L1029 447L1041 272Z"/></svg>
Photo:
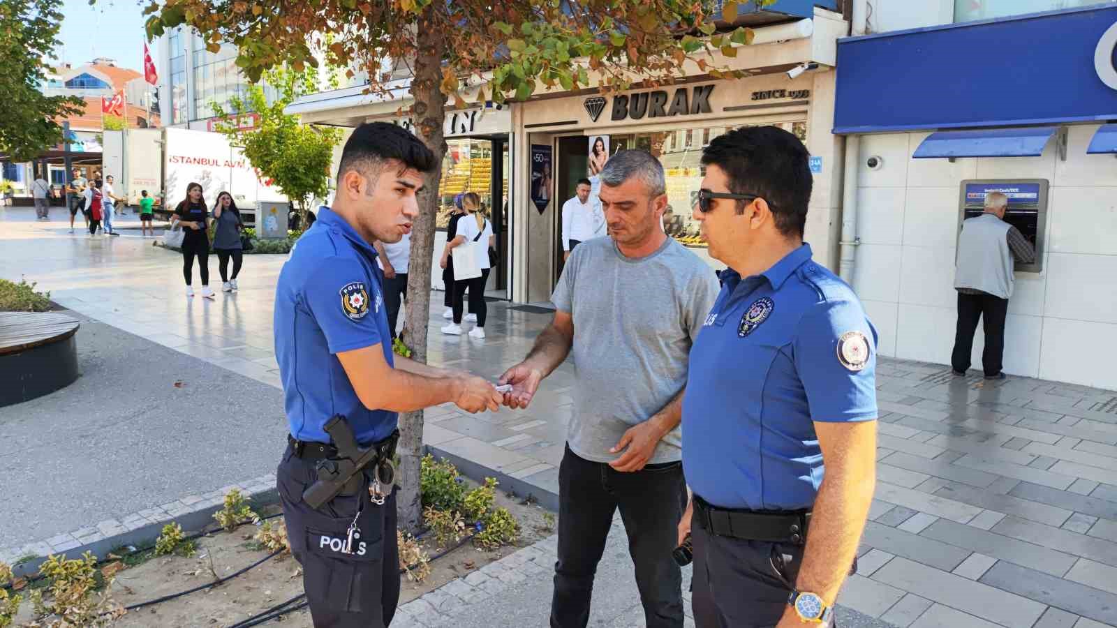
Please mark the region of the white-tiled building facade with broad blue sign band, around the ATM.
<svg viewBox="0 0 1117 628"><path fill-rule="evenodd" d="M1038 251L1016 266L1005 372L1117 388L1117 4L1085 3L885 0L884 32L839 41L850 275L881 354L949 363L960 223L996 189Z"/></svg>

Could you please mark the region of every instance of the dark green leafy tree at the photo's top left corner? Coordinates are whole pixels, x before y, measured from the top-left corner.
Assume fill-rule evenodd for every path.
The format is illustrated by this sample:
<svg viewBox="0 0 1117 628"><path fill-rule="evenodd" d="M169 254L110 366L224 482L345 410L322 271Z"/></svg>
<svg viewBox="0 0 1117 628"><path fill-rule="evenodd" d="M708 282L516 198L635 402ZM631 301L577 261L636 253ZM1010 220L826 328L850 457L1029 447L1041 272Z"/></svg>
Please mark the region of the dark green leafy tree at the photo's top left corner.
<svg viewBox="0 0 1117 628"><path fill-rule="evenodd" d="M40 92L55 57L61 0L0 2L0 153L29 161L63 141L57 122L84 111L80 98Z"/></svg>

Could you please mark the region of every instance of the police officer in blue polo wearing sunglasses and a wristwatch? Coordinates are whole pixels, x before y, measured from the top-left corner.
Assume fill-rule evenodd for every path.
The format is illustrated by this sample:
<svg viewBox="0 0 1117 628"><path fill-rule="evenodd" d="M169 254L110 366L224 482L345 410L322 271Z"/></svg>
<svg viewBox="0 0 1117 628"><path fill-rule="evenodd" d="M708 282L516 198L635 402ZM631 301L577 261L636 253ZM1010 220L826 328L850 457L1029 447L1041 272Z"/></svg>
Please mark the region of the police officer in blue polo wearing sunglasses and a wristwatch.
<svg viewBox="0 0 1117 628"><path fill-rule="evenodd" d="M808 158L773 126L703 154L694 218L728 268L682 405L700 628L833 626L872 498L877 334L802 240Z"/></svg>

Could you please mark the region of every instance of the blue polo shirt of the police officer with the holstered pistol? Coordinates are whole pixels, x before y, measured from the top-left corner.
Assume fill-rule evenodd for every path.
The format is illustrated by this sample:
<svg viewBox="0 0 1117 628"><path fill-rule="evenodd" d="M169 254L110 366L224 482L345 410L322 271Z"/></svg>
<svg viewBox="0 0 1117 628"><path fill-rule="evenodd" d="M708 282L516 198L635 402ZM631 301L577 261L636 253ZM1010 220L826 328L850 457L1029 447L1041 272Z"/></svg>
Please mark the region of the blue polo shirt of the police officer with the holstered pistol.
<svg viewBox="0 0 1117 628"><path fill-rule="evenodd" d="M323 426L343 415L361 444L388 437L397 413L357 399L336 353L380 343L393 365L376 250L330 208L290 251L276 285L276 361L290 434L330 443Z"/></svg>

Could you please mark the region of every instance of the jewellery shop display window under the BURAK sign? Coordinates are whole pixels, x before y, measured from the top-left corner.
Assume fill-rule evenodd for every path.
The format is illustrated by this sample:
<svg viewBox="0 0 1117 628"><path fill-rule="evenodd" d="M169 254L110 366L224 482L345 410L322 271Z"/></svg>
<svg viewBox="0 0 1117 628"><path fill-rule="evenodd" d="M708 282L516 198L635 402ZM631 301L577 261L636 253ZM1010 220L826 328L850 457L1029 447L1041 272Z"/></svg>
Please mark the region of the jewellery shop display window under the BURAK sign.
<svg viewBox="0 0 1117 628"><path fill-rule="evenodd" d="M806 122L787 121L764 123L793 133L803 143L806 142ZM694 129L675 129L652 133L611 136L612 150L641 149L650 152L663 164L667 182L667 211L663 213L663 231L679 242L690 247L705 247L706 242L698 231L698 221L691 218L694 203L698 199L705 169L703 168L701 150L712 140L734 129L760 126L760 124L739 124L729 126L706 126ZM452 197L450 199L452 201Z"/></svg>

